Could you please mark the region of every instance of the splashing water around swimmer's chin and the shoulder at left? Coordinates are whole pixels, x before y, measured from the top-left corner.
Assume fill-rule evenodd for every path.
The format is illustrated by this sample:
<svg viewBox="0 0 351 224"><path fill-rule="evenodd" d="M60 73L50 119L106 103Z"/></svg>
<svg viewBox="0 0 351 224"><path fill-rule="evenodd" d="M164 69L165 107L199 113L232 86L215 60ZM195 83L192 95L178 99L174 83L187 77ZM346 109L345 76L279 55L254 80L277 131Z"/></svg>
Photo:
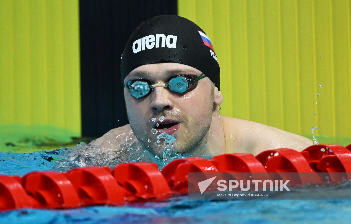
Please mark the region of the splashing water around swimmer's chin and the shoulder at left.
<svg viewBox="0 0 351 224"><path fill-rule="evenodd" d="M151 120L156 121L156 118ZM164 120L164 116L160 117L160 121ZM159 132L157 129L152 128L151 132L157 135ZM147 138L147 145L141 145L139 141L133 139L133 133L126 136L126 141L121 144L116 144L114 141L110 142L110 145L105 144L104 148L97 148L94 145L94 141L89 144L80 142L72 148L62 148L57 155L58 159L53 161L54 169L65 172L72 168L77 167L88 167L88 166L108 166L113 169L117 164L126 162L153 162L156 163L161 170L169 162L177 158L191 157L193 155L185 154L182 155L176 148L173 148L176 138L173 135L168 135L163 131L157 135L157 141L153 142L152 138ZM155 147L162 147L162 141L164 140L163 149L161 148L161 156L153 155L150 148L151 144L155 144ZM153 143L152 143L153 142ZM161 158L160 158L161 157ZM212 155L203 155L201 157L212 158Z"/></svg>

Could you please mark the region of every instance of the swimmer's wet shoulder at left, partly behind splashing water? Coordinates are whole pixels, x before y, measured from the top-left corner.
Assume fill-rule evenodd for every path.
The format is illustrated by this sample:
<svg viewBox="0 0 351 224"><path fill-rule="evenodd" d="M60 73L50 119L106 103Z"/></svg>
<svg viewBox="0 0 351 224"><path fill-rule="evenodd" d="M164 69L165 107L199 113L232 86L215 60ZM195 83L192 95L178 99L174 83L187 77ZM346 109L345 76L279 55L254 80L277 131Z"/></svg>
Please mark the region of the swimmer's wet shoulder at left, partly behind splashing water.
<svg viewBox="0 0 351 224"><path fill-rule="evenodd" d="M119 150L125 143L138 142L129 124L111 129L106 134L97 138L91 146L101 151Z"/></svg>

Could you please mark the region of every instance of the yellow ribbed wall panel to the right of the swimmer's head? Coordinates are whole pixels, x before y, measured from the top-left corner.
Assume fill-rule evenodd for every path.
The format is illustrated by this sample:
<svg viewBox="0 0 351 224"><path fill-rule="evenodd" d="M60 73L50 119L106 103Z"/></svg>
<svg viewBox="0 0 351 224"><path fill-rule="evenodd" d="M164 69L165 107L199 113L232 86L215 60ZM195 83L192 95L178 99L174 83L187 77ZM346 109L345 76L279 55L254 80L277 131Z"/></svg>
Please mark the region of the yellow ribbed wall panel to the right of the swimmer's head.
<svg viewBox="0 0 351 224"><path fill-rule="evenodd" d="M302 135L351 137L350 11L350 0L178 0L216 50L222 114Z"/></svg>

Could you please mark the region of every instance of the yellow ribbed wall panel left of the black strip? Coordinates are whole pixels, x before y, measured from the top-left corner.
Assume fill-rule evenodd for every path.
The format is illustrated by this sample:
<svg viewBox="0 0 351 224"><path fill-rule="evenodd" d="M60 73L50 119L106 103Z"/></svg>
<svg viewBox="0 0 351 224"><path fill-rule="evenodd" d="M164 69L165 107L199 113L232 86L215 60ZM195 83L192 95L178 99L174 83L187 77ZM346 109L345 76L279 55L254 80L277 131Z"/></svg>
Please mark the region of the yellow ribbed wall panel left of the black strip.
<svg viewBox="0 0 351 224"><path fill-rule="evenodd" d="M0 0L0 125L80 135L78 12L78 0Z"/></svg>

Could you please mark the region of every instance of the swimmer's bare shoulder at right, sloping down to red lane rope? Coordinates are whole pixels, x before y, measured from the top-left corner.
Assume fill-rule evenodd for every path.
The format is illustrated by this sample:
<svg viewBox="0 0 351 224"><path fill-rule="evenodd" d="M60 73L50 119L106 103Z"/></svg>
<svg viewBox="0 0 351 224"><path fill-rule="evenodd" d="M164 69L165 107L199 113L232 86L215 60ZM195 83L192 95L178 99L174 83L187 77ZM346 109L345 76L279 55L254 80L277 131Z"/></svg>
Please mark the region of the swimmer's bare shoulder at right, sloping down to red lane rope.
<svg viewBox="0 0 351 224"><path fill-rule="evenodd" d="M268 149L290 148L301 151L312 141L269 125L232 117L222 117L226 138L234 147L232 152L249 152L257 155Z"/></svg>

